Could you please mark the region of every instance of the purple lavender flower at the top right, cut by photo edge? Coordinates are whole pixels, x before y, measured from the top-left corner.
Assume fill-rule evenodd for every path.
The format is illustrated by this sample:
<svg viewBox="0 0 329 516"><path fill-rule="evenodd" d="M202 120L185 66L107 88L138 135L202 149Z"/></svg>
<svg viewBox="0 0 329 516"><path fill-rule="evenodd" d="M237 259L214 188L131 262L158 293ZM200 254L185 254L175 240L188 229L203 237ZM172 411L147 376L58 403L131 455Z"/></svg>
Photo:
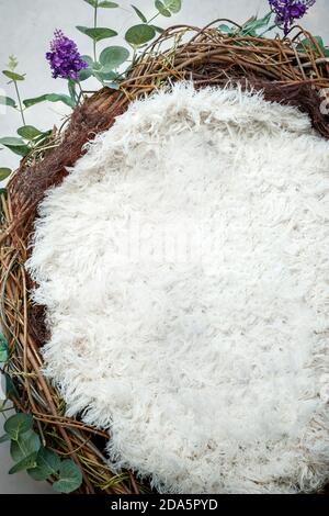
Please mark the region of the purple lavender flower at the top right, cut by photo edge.
<svg viewBox="0 0 329 516"><path fill-rule="evenodd" d="M315 2L316 0L269 0L272 11L276 14L275 22L282 26L285 35L294 21L303 18Z"/></svg>

